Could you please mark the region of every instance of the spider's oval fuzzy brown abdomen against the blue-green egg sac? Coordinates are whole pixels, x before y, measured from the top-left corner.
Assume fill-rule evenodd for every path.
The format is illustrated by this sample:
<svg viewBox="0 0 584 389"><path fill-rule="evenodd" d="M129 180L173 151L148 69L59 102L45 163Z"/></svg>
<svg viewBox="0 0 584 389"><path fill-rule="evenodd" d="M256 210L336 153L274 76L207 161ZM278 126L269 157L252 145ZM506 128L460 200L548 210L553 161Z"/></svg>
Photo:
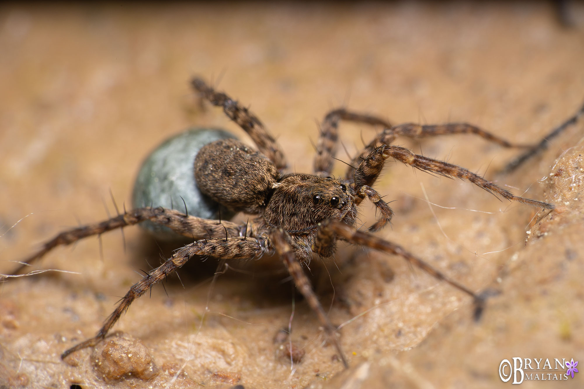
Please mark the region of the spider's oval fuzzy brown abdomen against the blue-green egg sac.
<svg viewBox="0 0 584 389"><path fill-rule="evenodd" d="M221 205L259 214L279 174L258 151L224 139L201 148L194 160L194 176L201 192Z"/></svg>

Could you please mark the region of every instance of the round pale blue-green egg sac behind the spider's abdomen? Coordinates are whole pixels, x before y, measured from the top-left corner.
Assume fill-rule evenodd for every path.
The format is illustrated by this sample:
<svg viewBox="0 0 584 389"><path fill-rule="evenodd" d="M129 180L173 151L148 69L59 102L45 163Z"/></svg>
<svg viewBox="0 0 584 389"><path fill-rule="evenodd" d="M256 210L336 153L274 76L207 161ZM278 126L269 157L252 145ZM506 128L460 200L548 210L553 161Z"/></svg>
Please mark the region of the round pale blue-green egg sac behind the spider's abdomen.
<svg viewBox="0 0 584 389"><path fill-rule="evenodd" d="M227 210L199 191L194 179L194 158L204 145L220 139L235 138L216 128L190 128L159 145L145 159L134 183L134 208L164 207L190 216L230 220L234 212ZM221 215L220 215L221 213ZM161 241L186 239L170 228L151 221L141 227Z"/></svg>

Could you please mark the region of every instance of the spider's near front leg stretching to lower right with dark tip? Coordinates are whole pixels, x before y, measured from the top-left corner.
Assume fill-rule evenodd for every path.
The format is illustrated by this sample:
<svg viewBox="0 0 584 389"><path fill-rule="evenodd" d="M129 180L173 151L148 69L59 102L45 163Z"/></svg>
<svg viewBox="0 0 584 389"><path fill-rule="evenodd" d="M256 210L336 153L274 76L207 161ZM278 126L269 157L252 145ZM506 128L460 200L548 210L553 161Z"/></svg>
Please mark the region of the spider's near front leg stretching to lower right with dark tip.
<svg viewBox="0 0 584 389"><path fill-rule="evenodd" d="M429 265L429 263L426 263L425 261L422 261L422 259L419 259L415 255L409 253L404 248L402 248L402 246L385 241L384 239L378 238L373 234L361 232L357 230L357 228L342 223L338 220L326 219L319 223L317 236L314 240L313 250L315 252L328 251L330 245L334 244L336 237L342 237L352 244L363 245L379 251L401 256L412 265L417 266L418 268L428 273L430 276L447 282L456 289L463 291L464 293L468 294L468 296L471 296L475 304L474 317L475 319L481 317L481 313L484 308L484 297L474 293L463 284L456 282L455 280L446 276L444 273L440 272L440 270Z"/></svg>

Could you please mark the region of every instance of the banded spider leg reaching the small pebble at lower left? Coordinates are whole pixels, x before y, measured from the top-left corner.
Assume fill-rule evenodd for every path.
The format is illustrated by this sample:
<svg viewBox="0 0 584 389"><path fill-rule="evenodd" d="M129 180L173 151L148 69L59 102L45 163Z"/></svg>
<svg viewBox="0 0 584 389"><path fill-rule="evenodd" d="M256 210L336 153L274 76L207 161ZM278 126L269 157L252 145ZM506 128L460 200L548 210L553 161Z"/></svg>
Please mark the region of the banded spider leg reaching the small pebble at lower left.
<svg viewBox="0 0 584 389"><path fill-rule="evenodd" d="M211 256L221 259L247 259L261 255L266 248L259 241L253 238L223 238L223 239L203 239L193 242L179 249L171 258L167 259L161 266L148 272L140 281L130 287L126 296L121 298L116 310L106 319L103 327L91 339L81 342L78 345L66 350L61 354L61 359L65 359L69 354L77 350L95 346L102 341L110 328L118 321L130 304L138 297L142 296L154 284L171 275L176 269L185 265L194 255Z"/></svg>

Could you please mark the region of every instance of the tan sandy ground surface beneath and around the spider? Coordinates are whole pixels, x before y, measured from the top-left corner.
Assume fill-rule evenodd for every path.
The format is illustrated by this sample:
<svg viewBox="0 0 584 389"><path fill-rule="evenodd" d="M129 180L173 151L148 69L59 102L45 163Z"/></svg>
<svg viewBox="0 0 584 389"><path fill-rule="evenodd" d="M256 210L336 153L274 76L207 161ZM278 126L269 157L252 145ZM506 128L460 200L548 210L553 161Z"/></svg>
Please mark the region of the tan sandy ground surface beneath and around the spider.
<svg viewBox="0 0 584 389"><path fill-rule="evenodd" d="M64 228L107 218L104 207L115 213L110 190L128 204L142 159L172 134L219 126L249 141L220 110L197 107L193 74L220 79L251 105L298 172L311 171L315 121L340 105L395 123L468 121L534 142L584 98L584 10L572 11L576 27L566 29L547 3L3 5L0 270ZM376 130L345 124L343 144L353 154ZM570 127L505 176L495 172L517 151L471 136L398 141L561 206L544 216L469 183L388 164L376 189L395 200L396 215L378 235L496 294L478 323L468 297L402 259L343 248L335 263L311 269L342 325L349 371L277 258L231 263L213 287L217 262L192 263L136 301L112 342L62 362L62 351L95 334L139 269L161 260L151 238L127 228L125 251L121 233L110 232L102 255L90 238L37 263L67 273L5 280L0 387L491 388L513 381L499 378L503 359L550 359L552 369L554 358L583 360L583 136L584 124ZM339 163L335 174L343 171ZM370 223L370 204L361 210ZM290 342L305 352L300 363L285 355ZM104 348L123 354L123 369L108 364ZM565 370L532 373L563 378ZM522 387L583 380L576 373Z"/></svg>

